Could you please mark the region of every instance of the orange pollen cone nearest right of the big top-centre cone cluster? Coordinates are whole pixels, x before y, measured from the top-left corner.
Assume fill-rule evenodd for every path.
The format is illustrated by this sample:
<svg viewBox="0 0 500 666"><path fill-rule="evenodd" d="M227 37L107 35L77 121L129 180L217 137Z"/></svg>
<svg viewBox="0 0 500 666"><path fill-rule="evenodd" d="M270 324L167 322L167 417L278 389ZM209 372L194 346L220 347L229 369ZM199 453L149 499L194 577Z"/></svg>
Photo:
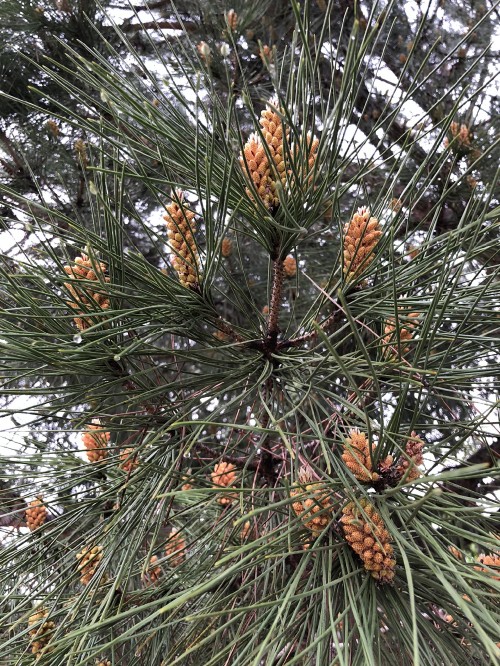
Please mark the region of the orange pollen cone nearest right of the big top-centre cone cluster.
<svg viewBox="0 0 500 666"><path fill-rule="evenodd" d="M370 217L368 208L358 208L344 225L344 275L352 281L373 261L373 251L382 231L377 218Z"/></svg>

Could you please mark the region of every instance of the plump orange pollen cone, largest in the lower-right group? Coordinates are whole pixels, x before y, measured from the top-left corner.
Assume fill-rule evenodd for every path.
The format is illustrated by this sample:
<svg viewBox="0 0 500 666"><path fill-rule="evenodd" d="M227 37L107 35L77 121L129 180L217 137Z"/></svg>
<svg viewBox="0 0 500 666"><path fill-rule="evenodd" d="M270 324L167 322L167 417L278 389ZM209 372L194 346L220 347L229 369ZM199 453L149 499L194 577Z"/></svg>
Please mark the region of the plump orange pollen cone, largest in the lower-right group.
<svg viewBox="0 0 500 666"><path fill-rule="evenodd" d="M363 560L365 569L380 583L392 581L396 560L391 537L373 504L366 499L361 499L359 505L349 502L342 514L346 541Z"/></svg>

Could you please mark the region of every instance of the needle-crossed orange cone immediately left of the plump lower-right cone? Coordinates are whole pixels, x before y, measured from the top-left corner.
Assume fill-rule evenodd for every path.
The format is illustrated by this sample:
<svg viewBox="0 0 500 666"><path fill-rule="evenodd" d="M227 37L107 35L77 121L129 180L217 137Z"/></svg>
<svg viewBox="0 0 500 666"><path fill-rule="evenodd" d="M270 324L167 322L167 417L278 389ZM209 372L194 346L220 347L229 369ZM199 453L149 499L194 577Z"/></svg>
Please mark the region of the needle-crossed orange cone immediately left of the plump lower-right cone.
<svg viewBox="0 0 500 666"><path fill-rule="evenodd" d="M309 468L302 467L298 484L294 484L290 496L295 499L292 509L304 527L313 537L319 536L332 520L333 504L328 489L323 483L313 481Z"/></svg>

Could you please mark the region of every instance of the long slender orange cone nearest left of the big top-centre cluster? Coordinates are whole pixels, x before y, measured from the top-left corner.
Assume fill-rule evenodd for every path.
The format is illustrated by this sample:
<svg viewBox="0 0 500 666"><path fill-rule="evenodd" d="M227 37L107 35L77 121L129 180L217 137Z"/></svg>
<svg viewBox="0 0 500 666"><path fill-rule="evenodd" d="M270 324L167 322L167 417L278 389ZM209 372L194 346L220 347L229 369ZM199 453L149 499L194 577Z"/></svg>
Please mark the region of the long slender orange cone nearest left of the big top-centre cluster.
<svg viewBox="0 0 500 666"><path fill-rule="evenodd" d="M194 240L195 213L185 204L182 192L177 192L177 201L167 207L163 219L167 222L167 235L172 249L172 266L184 287L196 287L199 281L200 257Z"/></svg>

